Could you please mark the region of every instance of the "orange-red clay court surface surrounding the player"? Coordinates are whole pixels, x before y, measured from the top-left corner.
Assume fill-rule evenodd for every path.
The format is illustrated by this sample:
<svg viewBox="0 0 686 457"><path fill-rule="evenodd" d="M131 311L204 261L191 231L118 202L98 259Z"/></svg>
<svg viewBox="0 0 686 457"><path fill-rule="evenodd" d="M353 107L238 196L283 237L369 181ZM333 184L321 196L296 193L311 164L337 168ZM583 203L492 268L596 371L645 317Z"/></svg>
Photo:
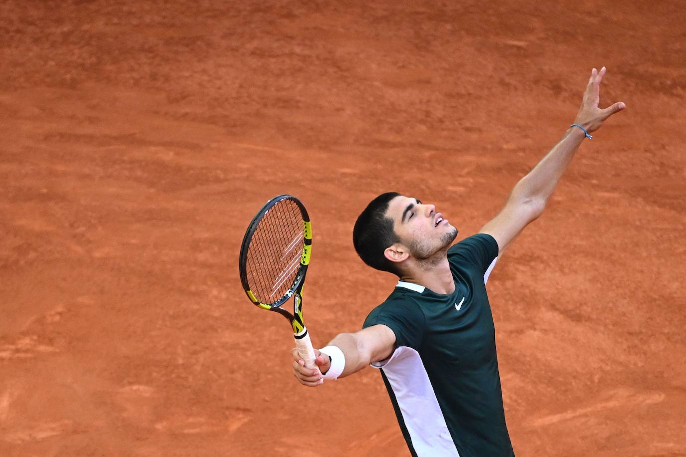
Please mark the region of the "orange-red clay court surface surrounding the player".
<svg viewBox="0 0 686 457"><path fill-rule="evenodd" d="M388 190L459 238L601 106L488 290L518 456L686 455L686 36L677 3L3 1L0 455L406 456L381 376L293 378L237 257L307 206L314 344L394 279L355 217Z"/></svg>

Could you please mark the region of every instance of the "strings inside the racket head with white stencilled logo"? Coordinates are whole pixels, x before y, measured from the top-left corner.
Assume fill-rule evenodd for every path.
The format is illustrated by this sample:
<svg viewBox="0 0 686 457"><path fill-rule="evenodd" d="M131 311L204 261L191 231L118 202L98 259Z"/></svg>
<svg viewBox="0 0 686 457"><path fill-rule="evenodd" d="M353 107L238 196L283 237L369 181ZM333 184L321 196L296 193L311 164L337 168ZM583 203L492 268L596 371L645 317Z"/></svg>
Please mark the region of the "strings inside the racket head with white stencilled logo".
<svg viewBox="0 0 686 457"><path fill-rule="evenodd" d="M248 284L259 301L274 303L292 288L303 240L303 216L294 201L279 201L264 214L252 234L246 262Z"/></svg>

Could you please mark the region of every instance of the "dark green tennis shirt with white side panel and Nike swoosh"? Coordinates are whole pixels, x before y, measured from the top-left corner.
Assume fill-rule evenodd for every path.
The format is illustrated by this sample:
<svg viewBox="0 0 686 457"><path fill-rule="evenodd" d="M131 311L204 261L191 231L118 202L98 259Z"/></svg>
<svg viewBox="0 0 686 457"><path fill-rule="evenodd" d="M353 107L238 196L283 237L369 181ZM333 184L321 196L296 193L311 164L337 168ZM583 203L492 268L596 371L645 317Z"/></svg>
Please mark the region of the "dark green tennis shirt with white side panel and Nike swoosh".
<svg viewBox="0 0 686 457"><path fill-rule="evenodd" d="M448 250L455 292L399 282L364 321L393 330L375 364L413 456L512 457L486 280L498 245L488 234Z"/></svg>

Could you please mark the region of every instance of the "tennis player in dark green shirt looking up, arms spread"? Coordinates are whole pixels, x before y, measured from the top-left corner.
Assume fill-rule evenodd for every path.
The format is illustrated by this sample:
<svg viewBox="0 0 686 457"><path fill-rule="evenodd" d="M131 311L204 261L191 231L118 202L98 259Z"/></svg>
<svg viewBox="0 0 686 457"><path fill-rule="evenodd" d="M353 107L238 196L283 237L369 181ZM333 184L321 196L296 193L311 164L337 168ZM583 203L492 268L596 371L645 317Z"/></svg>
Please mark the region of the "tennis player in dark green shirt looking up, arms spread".
<svg viewBox="0 0 686 457"><path fill-rule="evenodd" d="M398 275L398 284L362 330L315 350L323 375L294 349L298 381L318 386L371 365L413 456L514 456L485 284L512 240L541 216L584 138L624 110L621 102L598 108L604 74L605 67L591 71L574 123L480 233L452 245L458 230L434 205L397 193L369 203L355 223L355 249L370 267Z"/></svg>

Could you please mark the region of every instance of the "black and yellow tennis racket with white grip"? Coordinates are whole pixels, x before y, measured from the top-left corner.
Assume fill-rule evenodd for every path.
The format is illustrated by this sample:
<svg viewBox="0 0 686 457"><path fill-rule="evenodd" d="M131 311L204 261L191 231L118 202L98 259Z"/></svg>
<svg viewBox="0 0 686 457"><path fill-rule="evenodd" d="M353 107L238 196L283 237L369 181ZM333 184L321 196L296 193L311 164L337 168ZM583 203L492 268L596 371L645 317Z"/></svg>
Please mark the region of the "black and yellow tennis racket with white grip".
<svg viewBox="0 0 686 457"><path fill-rule="evenodd" d="M303 322L303 284L311 249L312 227L305 206L293 195L277 195L248 225L238 268L250 301L286 317L305 366L317 368ZM282 308L290 297L292 314Z"/></svg>

